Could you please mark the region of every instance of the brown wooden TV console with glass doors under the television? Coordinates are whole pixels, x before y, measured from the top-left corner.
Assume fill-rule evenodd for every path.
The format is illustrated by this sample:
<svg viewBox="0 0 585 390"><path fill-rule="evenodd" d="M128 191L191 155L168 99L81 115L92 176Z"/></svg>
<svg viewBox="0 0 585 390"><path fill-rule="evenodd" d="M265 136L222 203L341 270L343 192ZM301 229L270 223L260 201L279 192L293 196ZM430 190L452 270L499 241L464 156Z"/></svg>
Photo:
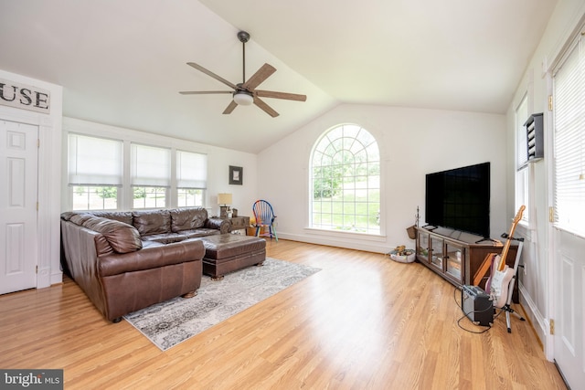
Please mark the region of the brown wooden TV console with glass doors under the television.
<svg viewBox="0 0 585 390"><path fill-rule="evenodd" d="M417 260L455 286L471 285L473 275L480 268L488 253L501 253L504 244L498 240L481 240L461 231L444 227L416 227ZM479 242L478 242L479 241ZM505 263L514 267L518 246L512 242ZM484 289L489 272L480 282ZM518 303L518 283L514 286L512 300Z"/></svg>

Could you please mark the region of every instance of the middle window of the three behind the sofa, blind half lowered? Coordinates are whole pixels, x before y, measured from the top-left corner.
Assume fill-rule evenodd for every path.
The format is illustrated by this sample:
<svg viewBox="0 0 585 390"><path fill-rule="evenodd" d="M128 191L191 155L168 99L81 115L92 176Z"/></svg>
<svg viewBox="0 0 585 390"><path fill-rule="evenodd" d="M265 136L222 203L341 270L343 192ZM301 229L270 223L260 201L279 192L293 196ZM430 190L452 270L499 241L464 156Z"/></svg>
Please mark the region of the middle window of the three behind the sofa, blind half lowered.
<svg viewBox="0 0 585 390"><path fill-rule="evenodd" d="M171 150L131 144L130 169L133 208L166 206L171 186Z"/></svg>

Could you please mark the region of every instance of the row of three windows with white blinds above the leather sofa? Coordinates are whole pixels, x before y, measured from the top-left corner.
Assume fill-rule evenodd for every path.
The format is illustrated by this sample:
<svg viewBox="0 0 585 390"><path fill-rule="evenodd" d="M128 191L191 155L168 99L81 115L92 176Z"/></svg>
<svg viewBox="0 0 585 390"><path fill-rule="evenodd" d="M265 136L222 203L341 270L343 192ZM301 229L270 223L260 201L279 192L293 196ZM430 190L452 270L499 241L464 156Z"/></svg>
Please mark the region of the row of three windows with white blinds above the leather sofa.
<svg viewBox="0 0 585 390"><path fill-rule="evenodd" d="M204 153L74 132L67 141L71 210L205 206Z"/></svg>

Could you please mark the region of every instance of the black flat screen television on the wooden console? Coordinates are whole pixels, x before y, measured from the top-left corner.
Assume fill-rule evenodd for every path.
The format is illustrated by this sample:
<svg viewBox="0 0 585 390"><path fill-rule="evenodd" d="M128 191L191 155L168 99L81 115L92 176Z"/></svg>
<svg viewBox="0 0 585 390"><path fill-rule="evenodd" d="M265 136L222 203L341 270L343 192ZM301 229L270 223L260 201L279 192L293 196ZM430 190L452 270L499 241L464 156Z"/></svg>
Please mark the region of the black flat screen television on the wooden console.
<svg viewBox="0 0 585 390"><path fill-rule="evenodd" d="M425 219L431 226L489 238L490 163L427 174Z"/></svg>

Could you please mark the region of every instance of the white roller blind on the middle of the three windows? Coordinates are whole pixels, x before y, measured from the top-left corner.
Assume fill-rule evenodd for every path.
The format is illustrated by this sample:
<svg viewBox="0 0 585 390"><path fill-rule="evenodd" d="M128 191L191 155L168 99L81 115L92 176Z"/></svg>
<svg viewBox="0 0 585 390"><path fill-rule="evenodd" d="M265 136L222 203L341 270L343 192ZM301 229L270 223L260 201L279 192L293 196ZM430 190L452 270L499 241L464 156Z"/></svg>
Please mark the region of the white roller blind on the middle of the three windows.
<svg viewBox="0 0 585 390"><path fill-rule="evenodd" d="M168 187L171 184L170 149L131 145L132 185Z"/></svg>

